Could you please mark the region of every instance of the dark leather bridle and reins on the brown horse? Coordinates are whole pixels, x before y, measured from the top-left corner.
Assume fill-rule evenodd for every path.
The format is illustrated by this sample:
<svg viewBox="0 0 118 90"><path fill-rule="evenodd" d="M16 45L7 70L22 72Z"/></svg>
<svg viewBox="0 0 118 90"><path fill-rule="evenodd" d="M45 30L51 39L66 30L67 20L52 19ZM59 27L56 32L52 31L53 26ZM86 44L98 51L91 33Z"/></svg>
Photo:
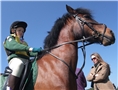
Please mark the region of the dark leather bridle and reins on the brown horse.
<svg viewBox="0 0 118 90"><path fill-rule="evenodd" d="M102 44L103 42L103 39L104 37L107 38L108 40L110 40L110 38L108 38L107 36L105 36L105 32L106 32L106 28L107 26L105 24L102 24L102 23L93 23L93 22L86 22L84 20L82 20L78 14L75 14L73 15L73 17L76 19L76 21L78 22L78 24L80 25L81 27L81 30L82 30L82 33L83 33L83 38L82 39L79 39L79 40L74 40L74 41L69 41L69 42L64 42L62 44L59 44L59 45L56 45L56 46L53 46L53 47L50 47L50 48L45 48L43 51L44 52L47 52L48 54L50 54L51 56L57 58L58 60L62 61L68 68L69 70L72 72L72 74L75 76L75 78L77 79L78 78L78 75L80 74L80 72L82 71L84 65L85 65L85 60L86 60L86 50L85 50L85 46L88 46L90 44L93 44L93 42L87 42L87 40L91 39L91 38L98 38L98 37L102 37L102 41L100 42L100 44ZM95 24L95 25L104 25L104 31L102 34L100 34L97 30L95 30L90 24ZM90 37L86 37L85 36L85 33L84 33L84 25L87 25L93 32L94 34ZM77 73L77 75L75 74L75 72L73 71L73 69L64 61L62 60L61 58L59 58L58 56L54 55L53 53L50 52L50 50L52 49L55 49L55 48L58 48L60 46L63 46L65 44L72 44L72 43L75 43L75 42L82 42L83 43L83 46L80 46L78 48L81 48L82 49L82 52L83 52L83 57L84 57L84 61L83 61L83 64L82 64L82 67L80 68L80 71Z"/></svg>

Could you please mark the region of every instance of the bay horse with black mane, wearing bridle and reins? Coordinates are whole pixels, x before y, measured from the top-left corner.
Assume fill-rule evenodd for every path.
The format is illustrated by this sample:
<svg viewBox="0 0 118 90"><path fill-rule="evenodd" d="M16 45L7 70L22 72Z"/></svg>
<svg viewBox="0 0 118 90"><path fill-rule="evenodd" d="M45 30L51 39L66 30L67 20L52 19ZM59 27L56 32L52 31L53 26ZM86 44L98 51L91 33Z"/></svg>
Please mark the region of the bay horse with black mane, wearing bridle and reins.
<svg viewBox="0 0 118 90"><path fill-rule="evenodd" d="M79 40L104 46L115 42L112 30L95 21L90 10L73 9L68 5L66 9L68 13L55 21L44 40L45 54L37 60L34 90L77 90L74 73Z"/></svg>

